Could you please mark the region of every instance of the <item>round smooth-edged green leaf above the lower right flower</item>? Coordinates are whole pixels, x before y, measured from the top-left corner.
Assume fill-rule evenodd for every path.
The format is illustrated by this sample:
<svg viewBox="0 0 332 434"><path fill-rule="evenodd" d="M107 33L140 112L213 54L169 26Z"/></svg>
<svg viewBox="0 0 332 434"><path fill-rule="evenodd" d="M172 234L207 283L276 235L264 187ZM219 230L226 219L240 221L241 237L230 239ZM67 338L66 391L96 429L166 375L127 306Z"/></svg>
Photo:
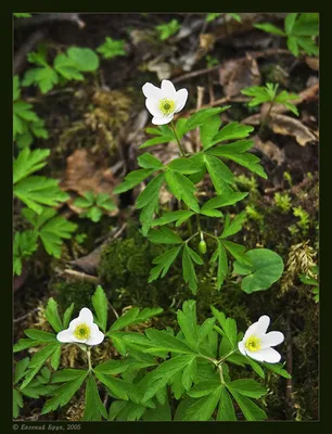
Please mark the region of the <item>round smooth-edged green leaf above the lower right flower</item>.
<svg viewBox="0 0 332 434"><path fill-rule="evenodd" d="M282 258L268 248L253 248L246 252L244 257L252 263L252 266L242 269L242 265L235 261L234 272L246 275L242 280L241 288L247 294L269 289L283 272Z"/></svg>

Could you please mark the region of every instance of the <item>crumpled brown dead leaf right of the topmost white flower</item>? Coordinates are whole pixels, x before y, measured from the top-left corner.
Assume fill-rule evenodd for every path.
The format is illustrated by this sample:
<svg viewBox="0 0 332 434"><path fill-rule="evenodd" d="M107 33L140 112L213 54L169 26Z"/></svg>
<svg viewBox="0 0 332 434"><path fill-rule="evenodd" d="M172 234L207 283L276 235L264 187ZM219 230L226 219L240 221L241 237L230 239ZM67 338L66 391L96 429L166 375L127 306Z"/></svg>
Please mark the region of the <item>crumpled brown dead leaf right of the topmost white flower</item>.
<svg viewBox="0 0 332 434"><path fill-rule="evenodd" d="M227 97L234 97L243 88L260 85L257 62L251 55L244 59L227 61L219 69L219 81Z"/></svg>

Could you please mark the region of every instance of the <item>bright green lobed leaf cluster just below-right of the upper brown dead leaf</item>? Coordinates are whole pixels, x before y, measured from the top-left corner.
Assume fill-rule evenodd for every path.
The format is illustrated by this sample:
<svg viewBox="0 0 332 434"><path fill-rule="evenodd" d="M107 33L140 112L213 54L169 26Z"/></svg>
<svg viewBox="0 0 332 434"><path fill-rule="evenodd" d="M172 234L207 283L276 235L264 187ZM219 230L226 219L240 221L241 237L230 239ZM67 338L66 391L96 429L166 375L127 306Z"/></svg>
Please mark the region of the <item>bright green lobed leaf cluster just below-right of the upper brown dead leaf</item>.
<svg viewBox="0 0 332 434"><path fill-rule="evenodd" d="M250 107L265 102L270 102L271 104L279 103L298 116L296 106L290 102L292 100L297 100L298 95L296 93L289 93L285 90L277 94L278 87L278 84L273 85L272 82L268 82L265 87L253 86L242 89L241 93L253 98L247 104Z"/></svg>

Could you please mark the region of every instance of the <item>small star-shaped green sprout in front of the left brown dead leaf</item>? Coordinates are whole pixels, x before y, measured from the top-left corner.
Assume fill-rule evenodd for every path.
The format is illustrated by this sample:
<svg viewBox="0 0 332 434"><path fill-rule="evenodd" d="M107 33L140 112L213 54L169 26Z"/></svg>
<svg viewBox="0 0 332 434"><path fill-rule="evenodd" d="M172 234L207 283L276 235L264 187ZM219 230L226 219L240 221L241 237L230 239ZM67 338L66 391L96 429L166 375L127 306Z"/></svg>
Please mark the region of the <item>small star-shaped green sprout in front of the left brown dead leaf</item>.
<svg viewBox="0 0 332 434"><path fill-rule="evenodd" d="M79 217L87 217L93 222L98 222L104 212L112 212L116 206L107 193L94 194L92 191L87 191L82 197L74 201L74 206L85 208L86 210L79 214Z"/></svg>

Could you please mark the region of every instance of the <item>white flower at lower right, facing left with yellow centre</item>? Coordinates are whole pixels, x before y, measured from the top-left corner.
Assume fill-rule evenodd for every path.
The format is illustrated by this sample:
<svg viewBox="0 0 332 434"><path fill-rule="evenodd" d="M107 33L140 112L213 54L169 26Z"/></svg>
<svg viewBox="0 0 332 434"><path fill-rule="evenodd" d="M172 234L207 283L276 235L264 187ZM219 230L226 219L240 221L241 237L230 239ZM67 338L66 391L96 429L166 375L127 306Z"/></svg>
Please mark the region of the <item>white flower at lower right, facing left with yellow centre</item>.
<svg viewBox="0 0 332 434"><path fill-rule="evenodd" d="M244 356L268 363L277 363L281 359L280 354L271 346L281 344L284 336L281 332L266 333L269 323L270 318L264 315L247 329L243 340L238 344Z"/></svg>

